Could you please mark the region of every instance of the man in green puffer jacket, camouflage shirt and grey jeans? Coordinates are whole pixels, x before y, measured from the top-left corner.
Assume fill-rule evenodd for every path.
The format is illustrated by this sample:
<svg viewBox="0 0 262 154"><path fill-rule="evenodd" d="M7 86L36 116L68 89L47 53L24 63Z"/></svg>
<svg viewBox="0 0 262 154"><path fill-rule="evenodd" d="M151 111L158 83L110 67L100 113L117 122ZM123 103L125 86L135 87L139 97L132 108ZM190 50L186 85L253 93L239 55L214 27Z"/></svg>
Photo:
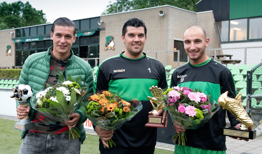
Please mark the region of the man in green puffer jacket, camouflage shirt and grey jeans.
<svg viewBox="0 0 262 154"><path fill-rule="evenodd" d="M19 84L27 84L33 91L33 96L40 90L45 89L45 84L56 85L59 73L63 73L65 79L70 74L76 79L81 75L81 81L92 87L92 69L84 59L74 56L71 49L75 42L75 24L68 18L58 18L51 28L51 46L46 52L30 55L21 71ZM92 88L88 92L92 93ZM17 102L17 117L24 118L28 115L34 122L35 128L21 131L24 138L18 153L80 153L80 145L85 140L83 123L87 119L79 107L71 114L72 120L65 123L49 118L31 107L31 100L27 108L20 107ZM80 131L79 139L68 139L69 127L76 127Z"/></svg>

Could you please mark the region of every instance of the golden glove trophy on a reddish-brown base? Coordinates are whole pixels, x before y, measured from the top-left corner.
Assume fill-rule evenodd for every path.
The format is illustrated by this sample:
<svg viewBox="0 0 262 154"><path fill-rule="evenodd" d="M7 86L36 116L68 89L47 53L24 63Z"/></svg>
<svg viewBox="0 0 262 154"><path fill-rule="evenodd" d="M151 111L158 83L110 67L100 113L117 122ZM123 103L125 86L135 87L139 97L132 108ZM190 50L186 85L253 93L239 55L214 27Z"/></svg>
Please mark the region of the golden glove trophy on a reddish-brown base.
<svg viewBox="0 0 262 154"><path fill-rule="evenodd" d="M149 88L150 92L153 94L153 97L148 96L150 103L153 107L151 115L148 116L148 123L146 127L160 127L164 128L165 125L162 124L162 116L157 116L156 113L165 108L165 104L162 101L163 92L162 89L157 86L152 86Z"/></svg>

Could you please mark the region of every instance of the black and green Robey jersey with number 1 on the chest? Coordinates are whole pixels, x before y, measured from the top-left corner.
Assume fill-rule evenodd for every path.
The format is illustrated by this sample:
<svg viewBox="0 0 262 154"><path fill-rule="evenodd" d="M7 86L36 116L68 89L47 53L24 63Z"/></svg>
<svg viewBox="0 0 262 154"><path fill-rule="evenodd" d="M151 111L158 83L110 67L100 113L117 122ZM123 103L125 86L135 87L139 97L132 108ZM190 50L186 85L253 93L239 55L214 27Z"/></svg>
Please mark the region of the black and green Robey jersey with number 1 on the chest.
<svg viewBox="0 0 262 154"><path fill-rule="evenodd" d="M112 140L116 147L138 150L154 148L157 129L145 127L148 112L152 111L147 97L153 96L149 90L151 86L167 88L165 67L145 53L139 59L126 58L123 53L106 59L98 66L93 90L112 90L125 101L139 100L143 104L143 109L132 120L114 131Z"/></svg>

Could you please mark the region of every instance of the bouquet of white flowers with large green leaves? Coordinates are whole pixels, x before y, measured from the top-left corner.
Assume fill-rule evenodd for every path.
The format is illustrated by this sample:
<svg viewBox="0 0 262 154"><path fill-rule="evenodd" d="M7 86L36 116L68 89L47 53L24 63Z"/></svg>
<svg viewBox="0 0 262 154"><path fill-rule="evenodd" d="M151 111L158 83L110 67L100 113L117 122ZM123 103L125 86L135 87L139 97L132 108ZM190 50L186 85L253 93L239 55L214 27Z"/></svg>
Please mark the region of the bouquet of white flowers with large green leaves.
<svg viewBox="0 0 262 154"><path fill-rule="evenodd" d="M68 79L65 80L62 73L58 76L57 85L46 84L46 87L45 90L40 90L33 96L31 107L61 123L71 120L69 115L80 108L81 102L88 91L88 85L81 81L80 76L74 80L69 75ZM73 139L80 138L79 133L80 131L76 127L69 127L69 140L71 135Z"/></svg>

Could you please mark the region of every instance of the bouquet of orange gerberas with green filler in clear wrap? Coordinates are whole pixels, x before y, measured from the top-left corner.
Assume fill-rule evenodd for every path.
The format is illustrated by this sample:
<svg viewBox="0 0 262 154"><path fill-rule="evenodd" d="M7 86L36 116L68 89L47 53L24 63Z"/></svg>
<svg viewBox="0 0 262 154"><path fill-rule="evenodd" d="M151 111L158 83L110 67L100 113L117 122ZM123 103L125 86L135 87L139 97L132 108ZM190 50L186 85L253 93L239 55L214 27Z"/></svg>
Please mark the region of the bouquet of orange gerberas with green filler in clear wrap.
<svg viewBox="0 0 262 154"><path fill-rule="evenodd" d="M89 103L83 111L88 119L97 127L104 130L117 130L125 122L130 121L142 108L140 101L132 101L137 106L123 100L111 91L103 91L89 97ZM106 141L108 148L116 146L112 139ZM104 145L104 148L106 146Z"/></svg>

